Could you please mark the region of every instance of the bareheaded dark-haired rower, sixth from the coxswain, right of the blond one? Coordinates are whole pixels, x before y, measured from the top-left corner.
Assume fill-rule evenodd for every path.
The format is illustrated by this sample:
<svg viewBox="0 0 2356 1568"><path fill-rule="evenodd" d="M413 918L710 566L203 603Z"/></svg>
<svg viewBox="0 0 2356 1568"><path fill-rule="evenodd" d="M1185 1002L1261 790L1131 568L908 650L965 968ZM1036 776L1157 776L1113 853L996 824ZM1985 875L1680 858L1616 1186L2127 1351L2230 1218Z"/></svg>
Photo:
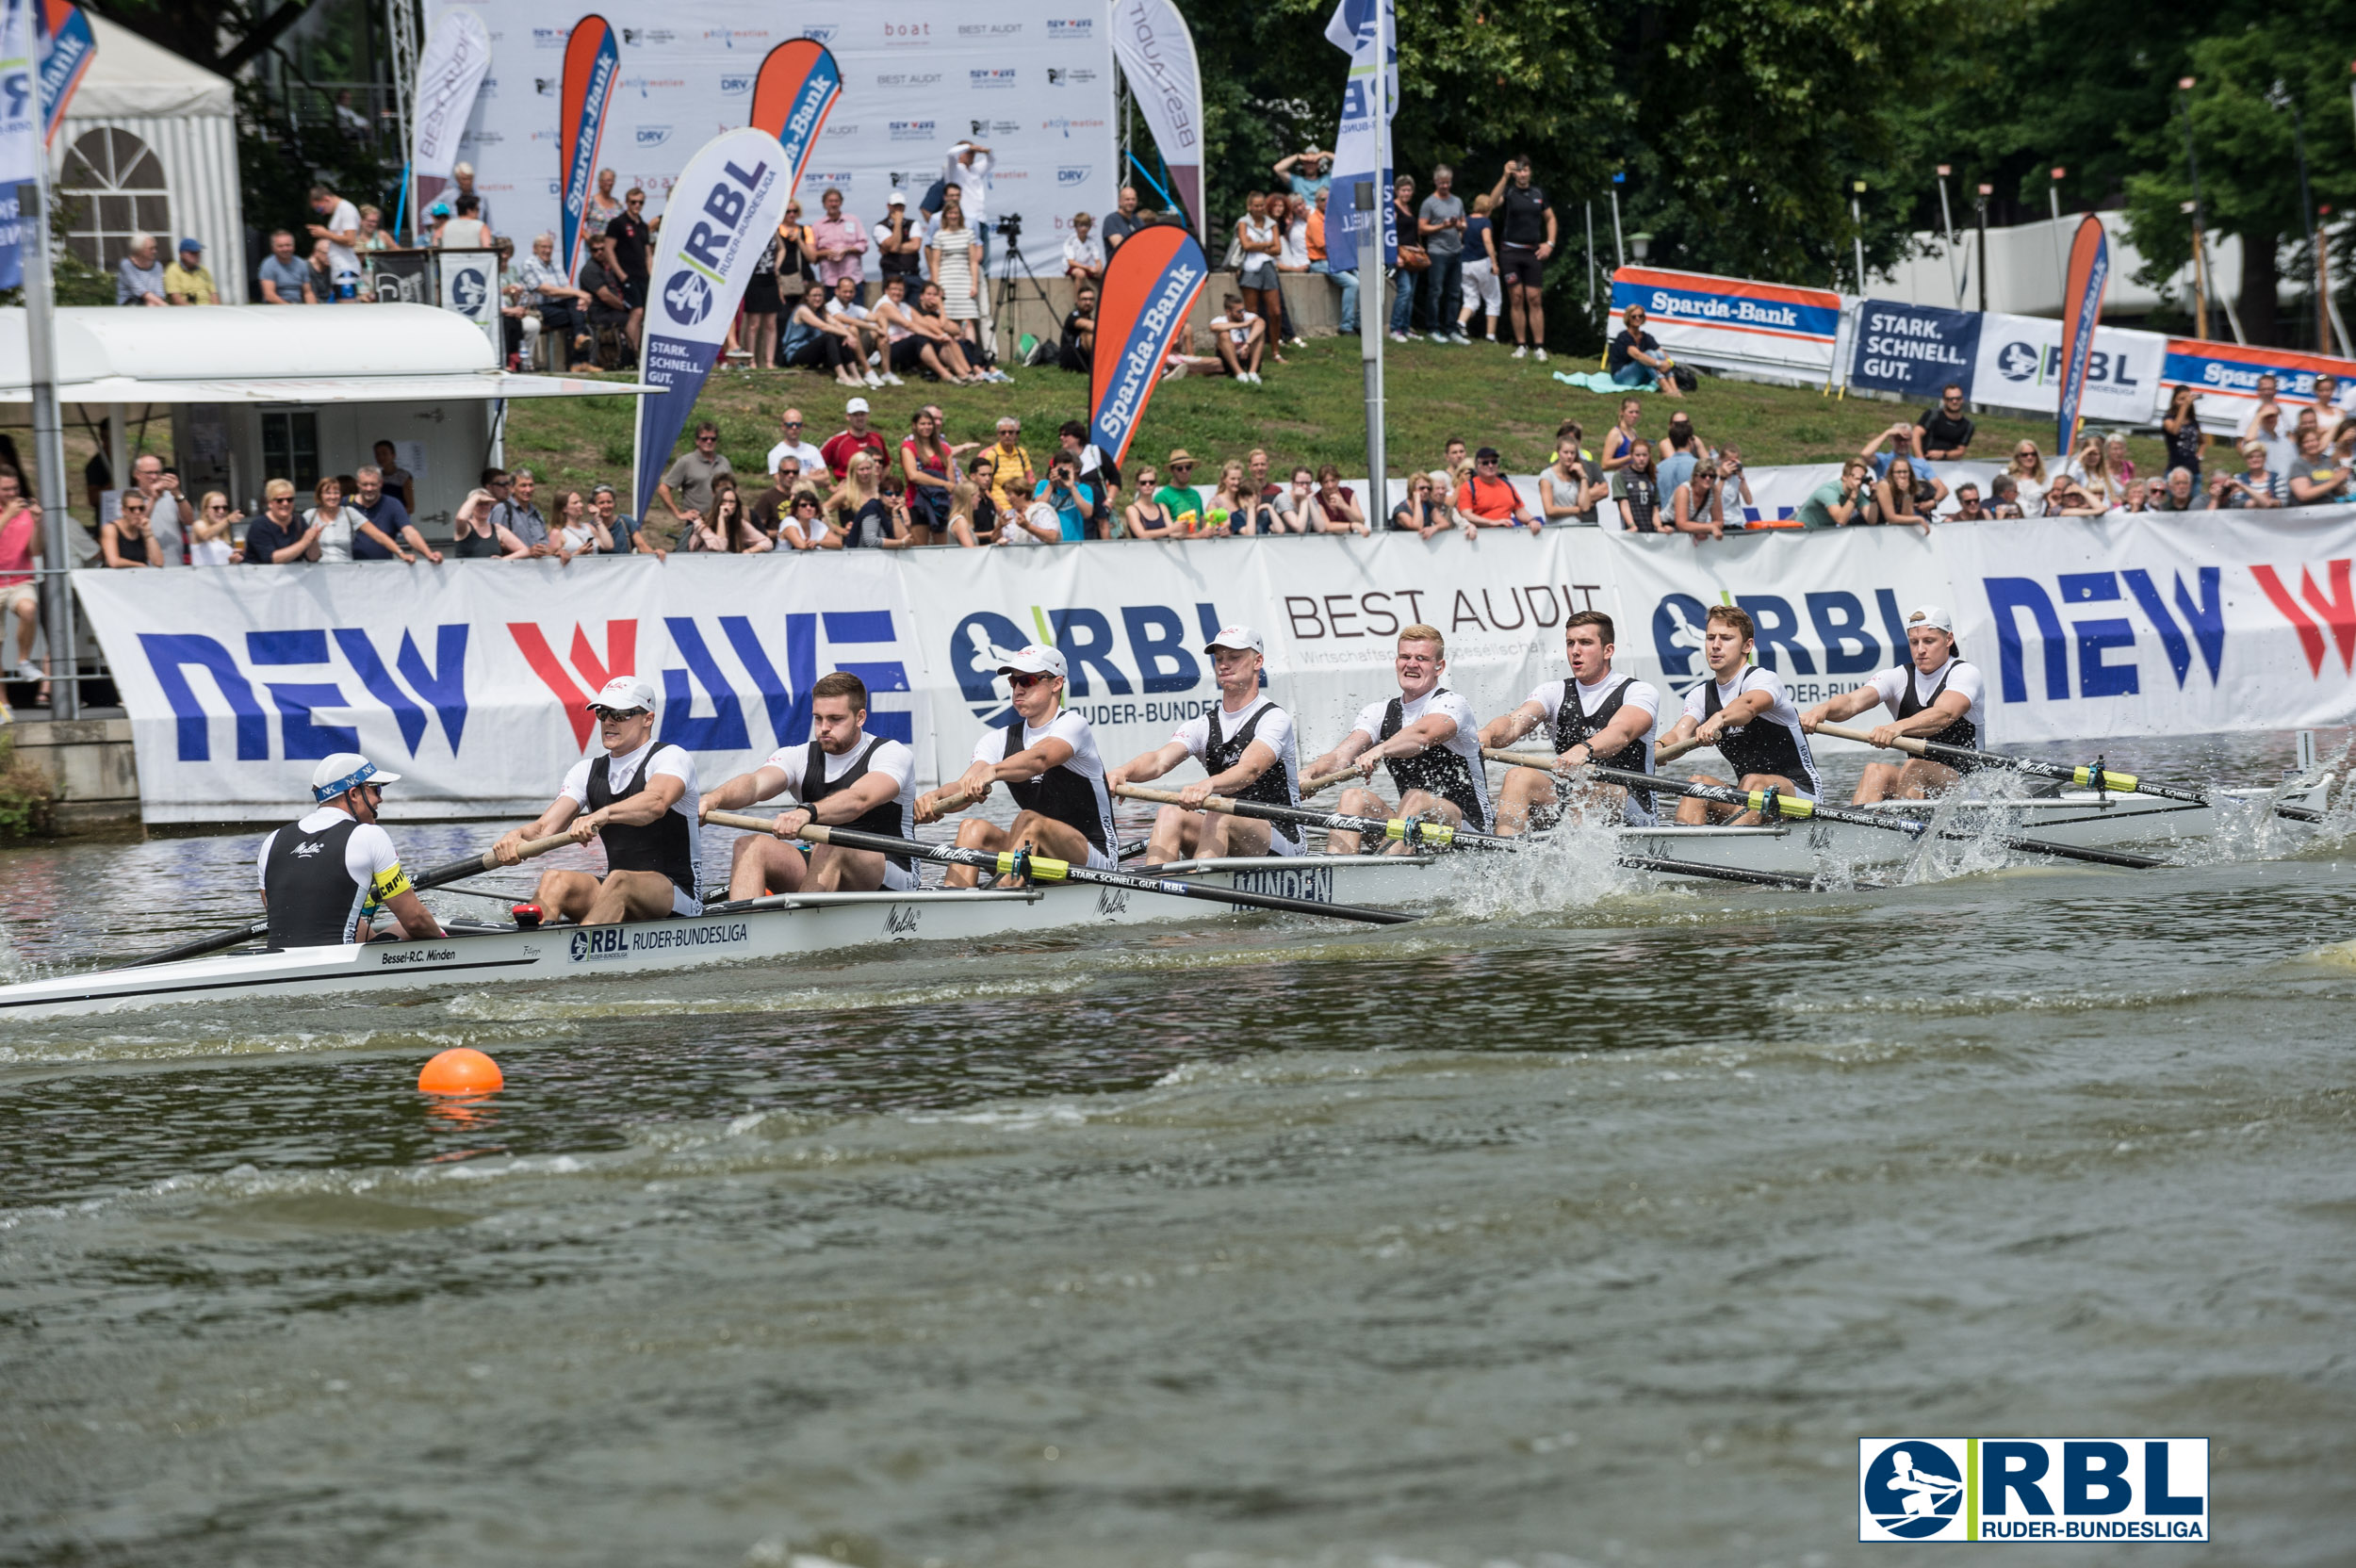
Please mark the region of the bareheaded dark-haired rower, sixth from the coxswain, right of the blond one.
<svg viewBox="0 0 2356 1568"><path fill-rule="evenodd" d="M1628 826L1652 826L1654 796L1619 784L1593 784L1564 777L1571 768L1602 763L1621 772L1652 772L1652 730L1661 723L1661 692L1649 680L1612 669L1612 617L1602 610L1579 610L1562 624L1562 655L1571 673L1538 685L1513 713L1491 718L1482 746L1510 746L1531 730L1553 737L1555 772L1515 768L1496 793L1496 831L1508 838L1529 829L1531 808L1583 815L1581 808L1609 808Z"/></svg>

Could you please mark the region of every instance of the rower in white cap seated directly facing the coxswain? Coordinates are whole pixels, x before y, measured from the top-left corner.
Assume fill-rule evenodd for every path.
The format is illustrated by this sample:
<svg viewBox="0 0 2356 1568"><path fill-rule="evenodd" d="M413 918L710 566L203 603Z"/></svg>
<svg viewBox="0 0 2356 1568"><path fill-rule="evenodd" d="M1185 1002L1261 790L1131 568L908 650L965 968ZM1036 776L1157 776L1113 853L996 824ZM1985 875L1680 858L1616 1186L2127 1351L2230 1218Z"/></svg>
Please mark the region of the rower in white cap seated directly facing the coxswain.
<svg viewBox="0 0 2356 1568"><path fill-rule="evenodd" d="M589 699L601 758L573 763L549 810L530 826L490 845L502 866L523 862L532 838L563 833L605 845L605 876L542 871L532 902L549 921L615 925L704 911L695 895L697 789L695 758L655 742L655 687L641 676L615 676Z"/></svg>

